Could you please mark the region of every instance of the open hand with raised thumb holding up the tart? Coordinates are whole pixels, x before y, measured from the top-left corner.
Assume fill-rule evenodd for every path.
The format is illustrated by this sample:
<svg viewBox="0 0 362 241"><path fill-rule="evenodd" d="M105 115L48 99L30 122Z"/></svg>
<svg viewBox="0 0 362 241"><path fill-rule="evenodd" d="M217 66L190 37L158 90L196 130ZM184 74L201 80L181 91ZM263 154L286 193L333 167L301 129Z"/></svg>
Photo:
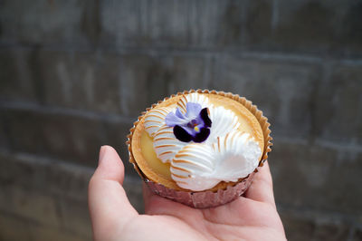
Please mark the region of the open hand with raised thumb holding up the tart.
<svg viewBox="0 0 362 241"><path fill-rule="evenodd" d="M123 178L119 155L103 146L89 187L95 240L285 240L267 162L243 197L207 209L161 198L144 186L146 214L139 215L122 188Z"/></svg>

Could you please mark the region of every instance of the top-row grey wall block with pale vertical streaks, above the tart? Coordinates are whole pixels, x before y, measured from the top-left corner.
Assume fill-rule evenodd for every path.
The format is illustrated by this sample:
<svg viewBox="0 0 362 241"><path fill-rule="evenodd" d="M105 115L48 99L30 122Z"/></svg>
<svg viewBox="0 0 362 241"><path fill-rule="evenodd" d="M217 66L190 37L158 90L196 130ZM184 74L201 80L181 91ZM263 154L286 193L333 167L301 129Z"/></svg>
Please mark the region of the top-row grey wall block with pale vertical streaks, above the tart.
<svg viewBox="0 0 362 241"><path fill-rule="evenodd" d="M104 43L184 48L243 40L243 1L108 1L100 9Z"/></svg>

